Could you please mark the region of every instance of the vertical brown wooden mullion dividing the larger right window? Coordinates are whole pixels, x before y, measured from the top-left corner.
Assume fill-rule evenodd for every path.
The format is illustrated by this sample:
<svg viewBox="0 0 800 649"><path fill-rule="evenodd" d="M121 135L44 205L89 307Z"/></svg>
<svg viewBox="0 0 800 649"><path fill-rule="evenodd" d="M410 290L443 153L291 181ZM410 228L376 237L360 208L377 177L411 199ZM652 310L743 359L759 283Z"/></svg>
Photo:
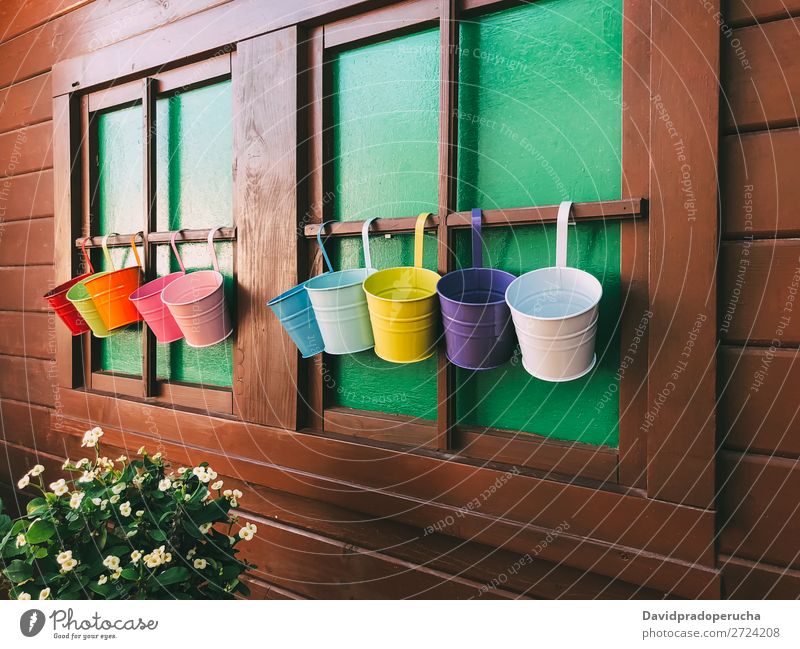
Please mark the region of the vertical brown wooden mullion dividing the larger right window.
<svg viewBox="0 0 800 649"><path fill-rule="evenodd" d="M439 226L438 266L444 275L453 269L453 246L447 215L455 210L456 144L458 91L458 23L456 0L442 0L439 17ZM455 366L447 360L443 345L439 345L436 373L437 448L451 448L451 433L455 424Z"/></svg>

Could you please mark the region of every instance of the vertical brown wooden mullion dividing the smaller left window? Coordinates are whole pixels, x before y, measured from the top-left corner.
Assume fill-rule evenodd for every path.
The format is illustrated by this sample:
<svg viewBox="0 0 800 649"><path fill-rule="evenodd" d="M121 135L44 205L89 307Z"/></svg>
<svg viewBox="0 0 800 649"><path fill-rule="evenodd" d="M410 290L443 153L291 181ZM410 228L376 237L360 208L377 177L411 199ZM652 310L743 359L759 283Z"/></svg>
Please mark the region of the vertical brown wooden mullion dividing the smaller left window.
<svg viewBox="0 0 800 649"><path fill-rule="evenodd" d="M155 255L150 254L148 235L158 229L156 219L156 97L158 81L153 78L142 80L142 127L143 159L144 159L144 218L142 245L144 264L144 281L149 282L156 277ZM144 396L155 393L156 384L156 337L147 323L142 321L142 384Z"/></svg>

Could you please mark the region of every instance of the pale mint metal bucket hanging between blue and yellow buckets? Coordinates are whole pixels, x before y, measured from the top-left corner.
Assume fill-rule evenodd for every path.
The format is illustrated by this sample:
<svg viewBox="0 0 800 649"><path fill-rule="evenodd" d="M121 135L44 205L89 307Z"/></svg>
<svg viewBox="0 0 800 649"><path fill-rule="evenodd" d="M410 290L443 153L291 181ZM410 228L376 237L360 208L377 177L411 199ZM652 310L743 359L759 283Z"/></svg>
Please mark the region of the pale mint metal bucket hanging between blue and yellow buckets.
<svg viewBox="0 0 800 649"><path fill-rule="evenodd" d="M369 226L374 220L365 221L361 229L366 268L323 273L306 282L306 291L328 354L354 354L375 346L367 297L361 287L364 280L375 272L369 254L368 237ZM321 236L325 225L323 223L317 232L317 242L330 268Z"/></svg>

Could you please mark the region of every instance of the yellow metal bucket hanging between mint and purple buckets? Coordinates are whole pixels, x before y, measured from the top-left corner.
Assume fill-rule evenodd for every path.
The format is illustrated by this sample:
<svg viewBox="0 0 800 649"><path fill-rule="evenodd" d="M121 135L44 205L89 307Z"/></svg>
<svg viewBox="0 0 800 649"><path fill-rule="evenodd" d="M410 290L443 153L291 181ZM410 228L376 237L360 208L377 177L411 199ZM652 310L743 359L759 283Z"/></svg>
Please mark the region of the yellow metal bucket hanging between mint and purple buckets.
<svg viewBox="0 0 800 649"><path fill-rule="evenodd" d="M387 268L364 280L375 353L392 363L415 363L436 351L439 331L440 276L422 267L425 221L417 217L414 228L414 266Z"/></svg>

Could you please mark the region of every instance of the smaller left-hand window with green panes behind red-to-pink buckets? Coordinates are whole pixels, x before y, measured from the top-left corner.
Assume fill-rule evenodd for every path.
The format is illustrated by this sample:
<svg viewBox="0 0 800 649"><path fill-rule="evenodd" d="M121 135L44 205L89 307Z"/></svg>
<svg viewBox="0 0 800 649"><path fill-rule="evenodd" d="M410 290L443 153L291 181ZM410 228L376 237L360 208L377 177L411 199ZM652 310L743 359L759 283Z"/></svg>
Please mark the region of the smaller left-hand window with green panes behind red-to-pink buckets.
<svg viewBox="0 0 800 649"><path fill-rule="evenodd" d="M207 66L209 67L209 66ZM179 243L187 271L211 268L205 233L224 227L215 243L220 271L225 278L228 307L235 308L233 243L233 100L229 79L201 79L203 69L176 71L166 83L153 81L155 128L152 169L154 213L145 218L147 167L144 162L146 129L142 100L117 104L122 92L100 91L89 97L88 231L99 236L123 235L111 248L117 268L135 263L127 241L130 234L150 227L146 274L150 278L180 270L167 233L188 231L190 242ZM216 74L216 71L212 72ZM177 88L171 86L181 82ZM141 88L140 84L134 84ZM136 87L131 86L131 92ZM98 106L92 110L92 103ZM111 106L106 106L111 103ZM141 171L140 171L141 170ZM139 172L139 173L136 173ZM152 223L152 225L151 225ZM204 231L204 232L203 232ZM182 235L178 241L186 239ZM228 239L228 240L225 240ZM141 245L141 244L140 244ZM108 270L95 252L96 265ZM231 412L233 340L192 348L184 340L145 343L143 323L130 325L108 337L93 339L88 377L94 389L132 396L163 397L172 403ZM144 372L154 376L144 381ZM149 384L149 390L148 390ZM149 392L149 394L148 394Z"/></svg>

